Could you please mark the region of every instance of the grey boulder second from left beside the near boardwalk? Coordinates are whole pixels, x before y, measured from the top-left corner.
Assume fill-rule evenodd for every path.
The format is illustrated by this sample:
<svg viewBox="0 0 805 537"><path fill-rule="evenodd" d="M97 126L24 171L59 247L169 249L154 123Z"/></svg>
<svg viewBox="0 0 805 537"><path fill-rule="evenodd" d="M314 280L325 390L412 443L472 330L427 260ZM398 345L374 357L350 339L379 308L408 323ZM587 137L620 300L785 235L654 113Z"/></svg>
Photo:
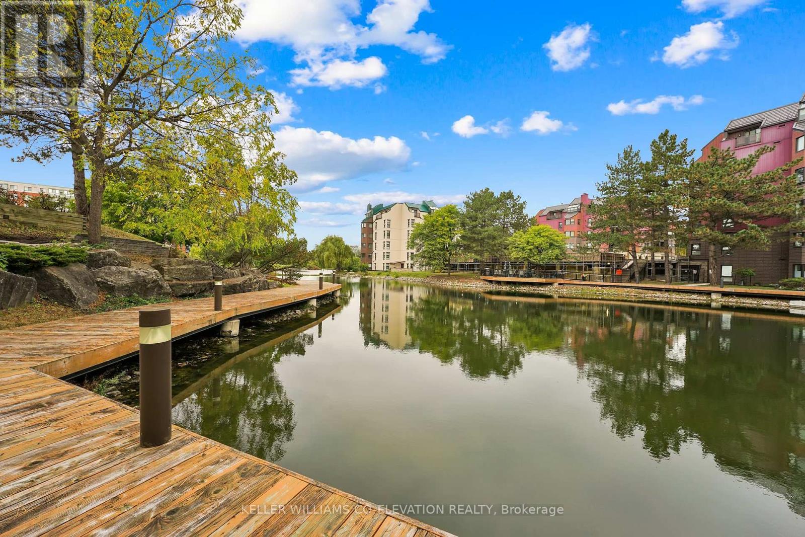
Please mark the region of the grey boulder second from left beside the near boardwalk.
<svg viewBox="0 0 805 537"><path fill-rule="evenodd" d="M36 280L39 295L59 304L86 308L98 299L95 279L81 263L45 266L31 273L31 276Z"/></svg>

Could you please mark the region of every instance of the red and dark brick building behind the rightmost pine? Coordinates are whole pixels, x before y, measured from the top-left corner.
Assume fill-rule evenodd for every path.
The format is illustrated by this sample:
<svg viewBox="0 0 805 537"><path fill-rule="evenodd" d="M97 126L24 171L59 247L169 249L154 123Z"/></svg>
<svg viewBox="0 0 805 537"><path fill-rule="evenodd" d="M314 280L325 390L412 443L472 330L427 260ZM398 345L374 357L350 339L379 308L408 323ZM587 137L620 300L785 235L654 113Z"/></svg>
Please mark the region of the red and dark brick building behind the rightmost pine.
<svg viewBox="0 0 805 537"><path fill-rule="evenodd" d="M733 119L702 149L699 160L707 159L712 147L729 148L741 158L762 146L774 146L775 149L761 157L754 170L756 174L805 156L805 94L799 101L789 105ZM803 166L805 165L791 171L796 174L800 185L805 185ZM716 271L716 275L723 276L727 282L737 281L733 274L740 268L753 269L757 273L753 281L758 283L776 283L792 276L803 277L805 242L791 240L802 238L803 231L794 232L795 237L791 237L791 233L778 233L769 250L735 250L730 255L718 258L717 266L712 267L712 270ZM706 260L708 247L705 242L696 242L694 239L691 243L691 258L700 256Z"/></svg>

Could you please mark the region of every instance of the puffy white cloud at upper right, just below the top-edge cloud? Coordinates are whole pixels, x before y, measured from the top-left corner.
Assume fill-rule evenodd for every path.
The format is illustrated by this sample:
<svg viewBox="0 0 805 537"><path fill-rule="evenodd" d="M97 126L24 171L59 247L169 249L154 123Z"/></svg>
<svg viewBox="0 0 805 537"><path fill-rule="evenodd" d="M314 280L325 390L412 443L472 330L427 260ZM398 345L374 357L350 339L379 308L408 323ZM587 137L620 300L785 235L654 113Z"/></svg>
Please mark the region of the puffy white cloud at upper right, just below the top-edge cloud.
<svg viewBox="0 0 805 537"><path fill-rule="evenodd" d="M738 46L738 36L725 34L724 23L707 22L694 24L685 35L677 35L671 44L663 48L663 63L681 68L704 64L713 54L728 60L727 51Z"/></svg>

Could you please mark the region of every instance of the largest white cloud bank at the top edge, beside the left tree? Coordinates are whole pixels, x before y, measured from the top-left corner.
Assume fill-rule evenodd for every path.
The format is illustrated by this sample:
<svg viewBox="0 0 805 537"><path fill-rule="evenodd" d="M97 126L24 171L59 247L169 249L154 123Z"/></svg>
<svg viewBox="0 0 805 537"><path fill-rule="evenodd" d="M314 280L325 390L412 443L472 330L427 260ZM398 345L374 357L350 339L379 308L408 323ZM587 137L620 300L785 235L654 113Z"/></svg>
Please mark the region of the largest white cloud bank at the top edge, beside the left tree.
<svg viewBox="0 0 805 537"><path fill-rule="evenodd" d="M364 48L401 48L426 64L442 60L451 48L438 35L415 30L419 16L432 11L428 0L378 0L363 21L359 0L237 0L237 4L243 10L237 39L292 48L301 67L291 76L299 86L360 88L385 76L386 67L376 56L357 58ZM382 86L374 88L382 91Z"/></svg>

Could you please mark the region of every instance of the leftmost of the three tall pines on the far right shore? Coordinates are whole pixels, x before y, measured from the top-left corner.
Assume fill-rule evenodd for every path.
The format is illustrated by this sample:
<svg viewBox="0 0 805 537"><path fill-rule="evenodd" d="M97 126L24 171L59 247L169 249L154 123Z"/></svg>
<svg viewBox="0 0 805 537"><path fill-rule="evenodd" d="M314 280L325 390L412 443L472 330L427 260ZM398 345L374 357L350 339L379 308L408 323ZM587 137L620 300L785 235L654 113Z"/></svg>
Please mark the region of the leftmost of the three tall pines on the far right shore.
<svg viewBox="0 0 805 537"><path fill-rule="evenodd" d="M629 252L637 266L638 245L650 241L647 216L651 205L643 173L645 164L640 151L628 146L617 155L617 163L607 164L606 168L606 180L596 184L599 203L587 209L592 231L585 239L595 246L608 245L611 250ZM635 279L640 283L638 271Z"/></svg>

